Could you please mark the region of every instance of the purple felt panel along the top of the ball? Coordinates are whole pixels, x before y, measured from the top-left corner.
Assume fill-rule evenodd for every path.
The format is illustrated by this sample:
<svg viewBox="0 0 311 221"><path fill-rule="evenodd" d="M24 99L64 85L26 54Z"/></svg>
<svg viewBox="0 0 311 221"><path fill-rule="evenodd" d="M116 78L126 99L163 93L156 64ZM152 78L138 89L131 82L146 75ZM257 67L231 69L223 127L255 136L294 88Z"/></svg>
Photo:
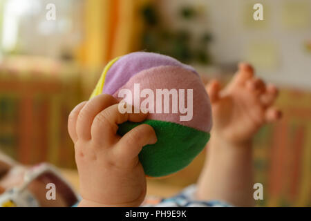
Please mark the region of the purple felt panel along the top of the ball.
<svg viewBox="0 0 311 221"><path fill-rule="evenodd" d="M106 74L102 93L113 95L115 91L126 84L131 77L140 73L140 71L157 66L178 66L196 73L194 68L182 64L172 57L151 52L133 52L120 57L120 59L111 66Z"/></svg>

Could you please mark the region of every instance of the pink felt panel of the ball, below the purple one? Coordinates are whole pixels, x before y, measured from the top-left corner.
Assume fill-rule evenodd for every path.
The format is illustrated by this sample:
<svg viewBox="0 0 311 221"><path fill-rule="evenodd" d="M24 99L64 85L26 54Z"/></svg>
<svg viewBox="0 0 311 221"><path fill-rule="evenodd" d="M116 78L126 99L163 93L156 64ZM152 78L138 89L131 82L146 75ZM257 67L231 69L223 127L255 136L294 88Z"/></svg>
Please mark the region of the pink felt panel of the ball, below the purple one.
<svg viewBox="0 0 311 221"><path fill-rule="evenodd" d="M209 132L211 130L211 106L209 97L205 91L205 87L198 75L194 75L191 70L180 68L177 66L159 66L156 68L150 68L142 70L137 75L131 77L122 88L128 88L132 93L132 104L134 105L134 96L140 97L140 95L134 94L134 84L140 84L140 93L144 88L153 90L154 93L154 110L156 112L156 89L185 89L185 104L187 107L187 89L193 89L193 117L189 121L180 121L180 115L187 115L180 113L178 107L178 113L172 113L172 104L170 103L169 113L150 113L148 119L156 119L167 122L175 122L184 126L196 128L200 131ZM119 88L113 97L121 101L123 97L118 97ZM140 104L146 99L140 97ZM178 104L179 104L178 93ZM126 102L129 100L126 99ZM164 106L162 99L162 108ZM163 112L163 111L162 111Z"/></svg>

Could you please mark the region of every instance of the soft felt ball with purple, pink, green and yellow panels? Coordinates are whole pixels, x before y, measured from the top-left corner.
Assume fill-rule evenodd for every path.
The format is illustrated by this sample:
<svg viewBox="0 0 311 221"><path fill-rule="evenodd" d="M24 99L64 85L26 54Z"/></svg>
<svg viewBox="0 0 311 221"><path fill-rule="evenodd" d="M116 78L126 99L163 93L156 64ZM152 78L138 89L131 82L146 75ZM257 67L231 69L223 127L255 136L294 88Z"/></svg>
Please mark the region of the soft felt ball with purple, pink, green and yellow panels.
<svg viewBox="0 0 311 221"><path fill-rule="evenodd" d="M170 93L169 102L161 94L164 89ZM128 92L126 96L120 96L124 91ZM160 177L180 171L209 140L211 106L205 87L194 68L176 59L150 52L113 59L104 68L91 97L101 93L149 109L147 120L124 122L117 131L124 135L139 124L149 124L155 130L158 142L144 146L139 155L146 175Z"/></svg>

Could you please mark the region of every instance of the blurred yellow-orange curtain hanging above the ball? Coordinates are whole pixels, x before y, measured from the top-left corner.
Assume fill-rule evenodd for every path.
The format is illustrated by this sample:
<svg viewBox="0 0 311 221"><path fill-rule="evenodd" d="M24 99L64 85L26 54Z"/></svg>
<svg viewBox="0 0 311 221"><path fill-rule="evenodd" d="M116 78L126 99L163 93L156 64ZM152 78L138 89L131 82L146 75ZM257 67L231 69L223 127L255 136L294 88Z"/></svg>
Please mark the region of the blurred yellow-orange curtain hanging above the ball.
<svg viewBox="0 0 311 221"><path fill-rule="evenodd" d="M151 0L86 0L82 64L102 67L114 57L139 50L141 9Z"/></svg>

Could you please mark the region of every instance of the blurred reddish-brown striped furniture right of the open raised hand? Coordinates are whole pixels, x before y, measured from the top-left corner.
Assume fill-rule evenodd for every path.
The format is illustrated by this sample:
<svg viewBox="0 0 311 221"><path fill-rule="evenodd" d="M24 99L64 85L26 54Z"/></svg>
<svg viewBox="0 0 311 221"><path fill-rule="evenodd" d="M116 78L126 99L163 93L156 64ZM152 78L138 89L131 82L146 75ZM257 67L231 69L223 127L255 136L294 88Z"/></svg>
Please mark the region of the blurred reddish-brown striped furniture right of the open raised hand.
<svg viewBox="0 0 311 221"><path fill-rule="evenodd" d="M281 90L283 119L255 137L256 182L265 189L260 204L311 206L311 93Z"/></svg>

